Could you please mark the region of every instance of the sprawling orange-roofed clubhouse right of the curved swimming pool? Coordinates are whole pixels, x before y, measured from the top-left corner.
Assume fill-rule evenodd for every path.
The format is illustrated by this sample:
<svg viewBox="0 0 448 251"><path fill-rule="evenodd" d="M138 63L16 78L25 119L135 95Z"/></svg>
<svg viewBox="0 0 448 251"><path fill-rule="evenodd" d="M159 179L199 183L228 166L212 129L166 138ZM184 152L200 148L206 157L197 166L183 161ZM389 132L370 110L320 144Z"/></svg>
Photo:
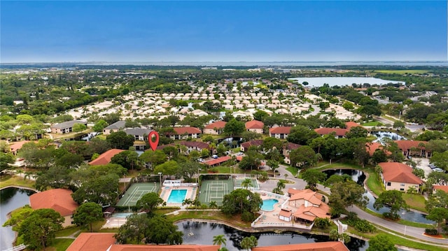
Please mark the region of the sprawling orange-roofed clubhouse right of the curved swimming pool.
<svg viewBox="0 0 448 251"><path fill-rule="evenodd" d="M311 189L288 189L288 206L297 208L293 212L296 222L314 222L316 217L330 218L330 207L322 201L323 195Z"/></svg>

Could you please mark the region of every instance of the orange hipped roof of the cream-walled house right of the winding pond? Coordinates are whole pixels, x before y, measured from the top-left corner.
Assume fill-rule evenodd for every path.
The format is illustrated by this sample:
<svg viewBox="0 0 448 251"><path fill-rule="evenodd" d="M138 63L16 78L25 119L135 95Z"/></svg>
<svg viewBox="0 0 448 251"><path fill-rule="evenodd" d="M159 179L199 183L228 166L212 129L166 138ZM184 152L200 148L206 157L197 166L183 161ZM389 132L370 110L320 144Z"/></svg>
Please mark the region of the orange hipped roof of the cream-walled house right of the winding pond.
<svg viewBox="0 0 448 251"><path fill-rule="evenodd" d="M423 183L419 177L412 173L410 166L398 162L381 162L378 165L383 169L383 177L386 182Z"/></svg>

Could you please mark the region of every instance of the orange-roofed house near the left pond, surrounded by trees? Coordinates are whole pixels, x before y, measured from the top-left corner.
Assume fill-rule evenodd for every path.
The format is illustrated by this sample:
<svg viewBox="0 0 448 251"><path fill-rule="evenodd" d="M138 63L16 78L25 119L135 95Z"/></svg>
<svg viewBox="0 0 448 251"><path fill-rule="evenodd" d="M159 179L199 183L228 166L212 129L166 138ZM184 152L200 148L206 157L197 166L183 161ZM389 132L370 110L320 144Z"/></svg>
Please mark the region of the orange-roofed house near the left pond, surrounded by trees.
<svg viewBox="0 0 448 251"><path fill-rule="evenodd" d="M50 189L44 192L38 192L29 196L29 206L36 209L52 208L64 217L62 227L71 225L71 217L78 208L78 203L71 198L71 190L69 189Z"/></svg>

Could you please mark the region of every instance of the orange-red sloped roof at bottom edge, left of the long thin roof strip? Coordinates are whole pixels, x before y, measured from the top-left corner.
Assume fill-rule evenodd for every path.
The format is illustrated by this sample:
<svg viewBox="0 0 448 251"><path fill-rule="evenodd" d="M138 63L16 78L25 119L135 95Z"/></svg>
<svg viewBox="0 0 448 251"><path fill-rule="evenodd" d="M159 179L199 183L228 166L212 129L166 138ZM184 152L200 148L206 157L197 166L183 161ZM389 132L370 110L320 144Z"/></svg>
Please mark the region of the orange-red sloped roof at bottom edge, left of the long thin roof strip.
<svg viewBox="0 0 448 251"><path fill-rule="evenodd" d="M113 233L81 233L66 251L107 250L116 239Z"/></svg>

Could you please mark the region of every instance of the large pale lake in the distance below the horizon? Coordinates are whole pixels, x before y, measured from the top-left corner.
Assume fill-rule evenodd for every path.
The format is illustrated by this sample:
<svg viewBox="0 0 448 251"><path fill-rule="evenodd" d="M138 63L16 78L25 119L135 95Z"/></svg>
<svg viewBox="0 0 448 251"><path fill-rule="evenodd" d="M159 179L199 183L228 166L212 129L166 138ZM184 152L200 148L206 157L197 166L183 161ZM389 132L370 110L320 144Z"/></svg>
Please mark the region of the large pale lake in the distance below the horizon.
<svg viewBox="0 0 448 251"><path fill-rule="evenodd" d="M305 81L308 82L309 85L307 87L321 87L323 84L328 84L330 86L344 86L356 83L365 84L369 83L370 85L386 85L388 83L400 83L404 85L403 81L394 81L394 80L384 80L381 78L365 78L365 77L323 77L323 78L288 78L288 80L297 80L300 84Z"/></svg>

